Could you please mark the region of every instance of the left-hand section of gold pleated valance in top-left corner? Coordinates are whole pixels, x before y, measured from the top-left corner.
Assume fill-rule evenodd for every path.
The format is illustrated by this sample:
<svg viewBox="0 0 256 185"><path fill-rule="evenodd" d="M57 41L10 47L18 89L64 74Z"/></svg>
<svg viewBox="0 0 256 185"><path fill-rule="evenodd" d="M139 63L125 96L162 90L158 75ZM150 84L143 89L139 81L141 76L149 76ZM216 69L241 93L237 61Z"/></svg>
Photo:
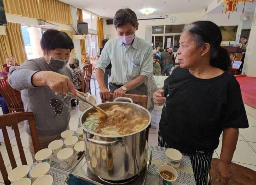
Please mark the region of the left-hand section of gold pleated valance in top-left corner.
<svg viewBox="0 0 256 185"><path fill-rule="evenodd" d="M38 0L3 0L5 13L40 19Z"/></svg>

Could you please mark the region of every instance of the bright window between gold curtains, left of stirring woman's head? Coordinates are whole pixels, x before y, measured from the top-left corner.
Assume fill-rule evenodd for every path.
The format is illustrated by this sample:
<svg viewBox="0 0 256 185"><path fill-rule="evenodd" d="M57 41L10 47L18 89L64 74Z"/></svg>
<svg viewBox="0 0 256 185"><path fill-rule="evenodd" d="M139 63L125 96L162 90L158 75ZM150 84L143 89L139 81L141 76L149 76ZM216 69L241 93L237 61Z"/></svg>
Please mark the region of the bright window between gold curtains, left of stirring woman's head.
<svg viewBox="0 0 256 185"><path fill-rule="evenodd" d="M21 31L27 58L32 59L43 56L40 46L40 39L42 37L41 29L35 27L21 26Z"/></svg>

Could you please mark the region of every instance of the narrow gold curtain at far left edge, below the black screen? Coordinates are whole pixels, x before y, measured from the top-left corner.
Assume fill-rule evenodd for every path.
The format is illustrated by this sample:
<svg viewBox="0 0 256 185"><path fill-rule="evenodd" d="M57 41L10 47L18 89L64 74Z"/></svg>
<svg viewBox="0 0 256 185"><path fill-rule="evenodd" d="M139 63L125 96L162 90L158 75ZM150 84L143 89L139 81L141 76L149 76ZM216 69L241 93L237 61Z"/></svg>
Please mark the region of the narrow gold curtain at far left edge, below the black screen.
<svg viewBox="0 0 256 185"><path fill-rule="evenodd" d="M2 66L7 56L12 56L9 41L6 35L0 35L0 71L3 69Z"/></svg>

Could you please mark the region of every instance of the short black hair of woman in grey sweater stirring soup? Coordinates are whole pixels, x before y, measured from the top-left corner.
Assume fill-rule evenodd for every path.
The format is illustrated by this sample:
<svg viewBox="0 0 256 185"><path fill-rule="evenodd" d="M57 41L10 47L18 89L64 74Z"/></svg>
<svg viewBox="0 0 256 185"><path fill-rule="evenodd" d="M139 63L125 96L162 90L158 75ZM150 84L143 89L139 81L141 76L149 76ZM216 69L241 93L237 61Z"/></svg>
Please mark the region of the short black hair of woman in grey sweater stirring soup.
<svg viewBox="0 0 256 185"><path fill-rule="evenodd" d="M74 43L67 33L56 29L48 29L42 35L41 48L48 51L57 48L74 49Z"/></svg>

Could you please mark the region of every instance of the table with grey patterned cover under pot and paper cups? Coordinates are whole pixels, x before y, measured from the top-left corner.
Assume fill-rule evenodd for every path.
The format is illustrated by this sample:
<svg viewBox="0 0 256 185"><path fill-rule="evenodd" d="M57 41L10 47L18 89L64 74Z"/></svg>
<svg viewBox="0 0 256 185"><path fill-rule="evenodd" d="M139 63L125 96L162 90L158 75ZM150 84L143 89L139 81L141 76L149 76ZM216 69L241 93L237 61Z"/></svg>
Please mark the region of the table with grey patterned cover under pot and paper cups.
<svg viewBox="0 0 256 185"><path fill-rule="evenodd" d="M152 150L152 161L149 166L148 176L146 185L156 185L158 184L158 167L165 163L165 150L167 148L159 147L159 146L148 146L150 150ZM52 160L50 175L52 175L54 179L54 185L65 185L65 180L68 177L68 174L73 171L75 166L79 161L76 161L72 166L68 168L61 168L57 159ZM37 162L36 162L37 163ZM34 163L33 166L36 165ZM180 163L180 167L177 169L178 179L173 185L196 185L192 164L190 157L183 154L183 158Z"/></svg>

